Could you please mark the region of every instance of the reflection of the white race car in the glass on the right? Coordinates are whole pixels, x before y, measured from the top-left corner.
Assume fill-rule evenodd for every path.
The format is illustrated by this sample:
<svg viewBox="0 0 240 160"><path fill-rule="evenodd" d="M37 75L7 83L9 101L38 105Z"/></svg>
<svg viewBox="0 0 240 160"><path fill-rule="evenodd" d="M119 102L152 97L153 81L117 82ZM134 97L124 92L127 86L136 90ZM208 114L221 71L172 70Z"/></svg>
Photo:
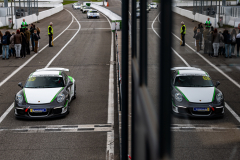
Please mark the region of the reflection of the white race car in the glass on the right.
<svg viewBox="0 0 240 160"><path fill-rule="evenodd" d="M213 85L209 74L199 68L172 68L172 111L189 117L222 117L224 95Z"/></svg>

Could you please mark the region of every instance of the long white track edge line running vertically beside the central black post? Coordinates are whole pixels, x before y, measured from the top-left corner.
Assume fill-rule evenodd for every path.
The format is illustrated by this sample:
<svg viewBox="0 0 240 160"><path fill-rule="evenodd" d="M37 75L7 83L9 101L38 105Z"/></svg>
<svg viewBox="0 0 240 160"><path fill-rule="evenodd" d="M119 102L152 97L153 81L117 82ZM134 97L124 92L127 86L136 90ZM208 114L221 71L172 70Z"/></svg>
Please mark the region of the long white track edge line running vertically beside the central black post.
<svg viewBox="0 0 240 160"><path fill-rule="evenodd" d="M108 20L111 27L111 22L109 19L102 13L102 15ZM113 48L113 39L114 35L111 32L111 57L110 57L110 69L109 69L109 90L108 90L108 124L114 126L114 48ZM106 149L106 160L114 160L114 130L112 132L107 132L107 149Z"/></svg>

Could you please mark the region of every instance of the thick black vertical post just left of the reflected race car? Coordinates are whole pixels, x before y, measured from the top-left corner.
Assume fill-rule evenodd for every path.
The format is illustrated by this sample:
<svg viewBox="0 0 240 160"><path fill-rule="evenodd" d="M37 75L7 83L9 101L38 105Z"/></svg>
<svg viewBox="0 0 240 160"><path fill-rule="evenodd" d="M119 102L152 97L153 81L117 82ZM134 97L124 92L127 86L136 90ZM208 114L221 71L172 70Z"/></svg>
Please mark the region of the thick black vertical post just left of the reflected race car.
<svg viewBox="0 0 240 160"><path fill-rule="evenodd" d="M161 1L161 41L159 53L159 146L160 159L171 159L171 63L172 63L172 1ZM167 15L167 16L166 16ZM180 24L179 24L179 27ZM168 54L165 54L168 53Z"/></svg>

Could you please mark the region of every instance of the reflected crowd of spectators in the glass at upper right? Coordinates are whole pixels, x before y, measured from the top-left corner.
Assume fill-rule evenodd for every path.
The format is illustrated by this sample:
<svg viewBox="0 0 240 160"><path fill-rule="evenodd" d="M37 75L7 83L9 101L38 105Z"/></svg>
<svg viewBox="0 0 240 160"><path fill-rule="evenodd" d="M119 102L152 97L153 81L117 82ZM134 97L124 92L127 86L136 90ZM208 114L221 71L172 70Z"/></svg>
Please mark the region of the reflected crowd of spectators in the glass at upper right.
<svg viewBox="0 0 240 160"><path fill-rule="evenodd" d="M210 57L220 55L225 58L239 57L240 31L237 33L235 28L231 31L224 29L222 32L218 31L217 28L203 27L203 24L200 23L193 28L193 38L196 50L198 52L203 50ZM237 54L234 53L236 46Z"/></svg>

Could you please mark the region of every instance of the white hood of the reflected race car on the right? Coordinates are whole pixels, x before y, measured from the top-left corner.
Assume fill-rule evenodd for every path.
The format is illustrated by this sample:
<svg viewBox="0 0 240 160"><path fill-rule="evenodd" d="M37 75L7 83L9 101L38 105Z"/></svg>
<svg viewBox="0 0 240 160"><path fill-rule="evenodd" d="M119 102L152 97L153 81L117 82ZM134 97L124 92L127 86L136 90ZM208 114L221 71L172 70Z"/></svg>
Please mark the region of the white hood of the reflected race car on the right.
<svg viewBox="0 0 240 160"><path fill-rule="evenodd" d="M193 103L210 103L215 94L214 87L177 87Z"/></svg>

